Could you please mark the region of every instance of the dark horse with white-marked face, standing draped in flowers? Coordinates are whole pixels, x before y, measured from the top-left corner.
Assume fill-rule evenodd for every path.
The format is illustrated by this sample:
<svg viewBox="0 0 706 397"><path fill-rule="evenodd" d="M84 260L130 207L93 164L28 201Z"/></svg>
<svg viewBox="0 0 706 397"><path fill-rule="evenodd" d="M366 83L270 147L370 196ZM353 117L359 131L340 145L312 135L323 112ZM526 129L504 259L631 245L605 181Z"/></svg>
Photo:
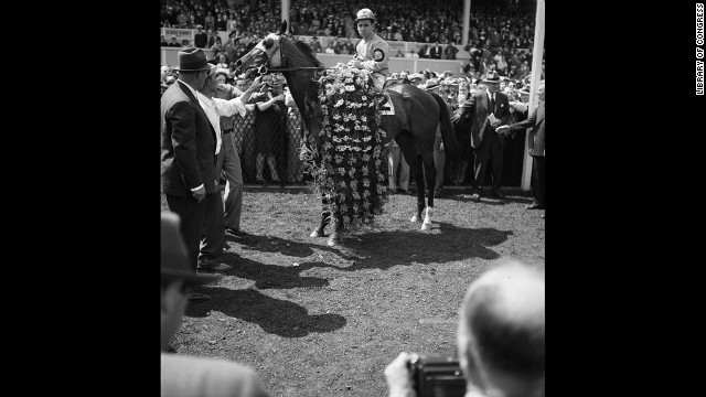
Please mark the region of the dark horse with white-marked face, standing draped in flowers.
<svg viewBox="0 0 706 397"><path fill-rule="evenodd" d="M314 75L323 65L311 53L311 49L303 42L290 40L287 32L287 21L282 21L277 33L268 34L253 50L236 61L236 72L248 75L279 72L287 79L289 90L299 108L304 126L313 137L319 136L320 126L312 122L304 107L304 97L317 100L318 83ZM421 219L425 208L425 179L428 206L421 229L431 227L434 207L434 184L436 168L434 165L434 141L437 126L440 124L443 147L450 159L459 157L459 144L454 129L449 118L449 110L441 97L427 93L410 84L399 84L387 88L386 94L394 105L395 115L383 115L382 128L387 133L387 141L395 139L405 160L409 163L411 173L417 182L417 213L411 222ZM384 142L384 143L387 143ZM424 176L422 178L422 163ZM328 214L322 214L320 226L311 234L312 237L323 236L323 228L329 222ZM338 222L334 233L329 239L333 246L339 242L342 223Z"/></svg>

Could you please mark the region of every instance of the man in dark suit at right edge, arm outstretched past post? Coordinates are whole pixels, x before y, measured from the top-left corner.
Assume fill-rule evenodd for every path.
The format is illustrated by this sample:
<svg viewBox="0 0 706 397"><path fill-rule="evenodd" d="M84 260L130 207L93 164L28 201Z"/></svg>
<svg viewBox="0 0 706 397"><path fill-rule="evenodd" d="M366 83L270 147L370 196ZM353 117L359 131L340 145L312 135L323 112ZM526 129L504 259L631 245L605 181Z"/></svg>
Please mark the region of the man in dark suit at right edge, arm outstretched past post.
<svg viewBox="0 0 706 397"><path fill-rule="evenodd" d="M515 122L510 126L498 128L499 133L507 133L512 130L532 128L527 147L530 155L532 155L532 195L534 203L527 210L544 210L544 187L545 187L545 168L544 168L544 81L537 86L539 95L539 105L534 109L528 119Z"/></svg>

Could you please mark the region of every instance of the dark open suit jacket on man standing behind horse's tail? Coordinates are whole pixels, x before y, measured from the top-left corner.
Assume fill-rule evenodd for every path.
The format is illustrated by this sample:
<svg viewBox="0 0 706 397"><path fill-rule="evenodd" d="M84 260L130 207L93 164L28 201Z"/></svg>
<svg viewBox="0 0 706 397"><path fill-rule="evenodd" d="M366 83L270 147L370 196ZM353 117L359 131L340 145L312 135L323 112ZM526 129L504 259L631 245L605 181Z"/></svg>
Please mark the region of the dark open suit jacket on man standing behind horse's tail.
<svg viewBox="0 0 706 397"><path fill-rule="evenodd" d="M457 130L459 126L464 126L472 122L471 127L471 147L473 149L478 149L483 141L483 137L486 133L495 133L495 130L490 125L490 120L488 120L488 116L492 112L496 118L500 119L500 126L506 125L510 120L510 103L507 101L507 96L503 93L495 93L495 111L490 109L490 98L488 97L488 93L475 92L469 100L459 108L459 117L460 125L457 125ZM454 125L457 124L458 118L454 119ZM464 122L466 121L466 122ZM503 135L498 135L498 139L500 140L500 146L505 144L505 137Z"/></svg>

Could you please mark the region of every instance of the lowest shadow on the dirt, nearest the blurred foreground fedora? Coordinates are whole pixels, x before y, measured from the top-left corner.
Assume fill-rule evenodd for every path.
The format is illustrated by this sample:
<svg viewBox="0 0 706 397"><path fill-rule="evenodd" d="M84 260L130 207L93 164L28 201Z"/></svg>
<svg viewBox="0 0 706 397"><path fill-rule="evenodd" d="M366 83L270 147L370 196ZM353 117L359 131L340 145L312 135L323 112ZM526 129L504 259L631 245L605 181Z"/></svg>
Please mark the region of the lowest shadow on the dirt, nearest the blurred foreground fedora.
<svg viewBox="0 0 706 397"><path fill-rule="evenodd" d="M258 324L263 331L284 336L301 337L312 332L332 332L346 324L345 318L339 314L309 314L307 309L297 303L268 297L247 288L232 290L215 287L200 288L211 296L207 304L190 303L185 314L203 318L212 310L225 315Z"/></svg>

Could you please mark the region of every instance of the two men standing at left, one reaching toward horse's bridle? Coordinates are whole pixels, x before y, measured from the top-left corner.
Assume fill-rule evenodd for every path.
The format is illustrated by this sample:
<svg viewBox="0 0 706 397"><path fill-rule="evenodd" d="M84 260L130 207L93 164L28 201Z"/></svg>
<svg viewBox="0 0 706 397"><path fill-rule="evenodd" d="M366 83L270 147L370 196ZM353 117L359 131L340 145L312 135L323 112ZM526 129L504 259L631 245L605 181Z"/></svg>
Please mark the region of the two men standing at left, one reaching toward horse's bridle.
<svg viewBox="0 0 706 397"><path fill-rule="evenodd" d="M161 181L169 210L181 218L181 232L193 270L227 271L221 262L226 230L239 228L243 206L240 160L224 118L245 116L245 103L263 83L255 83L239 97L224 89L217 67L206 62L201 49L179 52L179 79L161 98ZM223 125L222 125L223 120ZM225 127L222 129L222 127ZM226 208L220 175L226 171ZM208 296L192 292L190 300Z"/></svg>

